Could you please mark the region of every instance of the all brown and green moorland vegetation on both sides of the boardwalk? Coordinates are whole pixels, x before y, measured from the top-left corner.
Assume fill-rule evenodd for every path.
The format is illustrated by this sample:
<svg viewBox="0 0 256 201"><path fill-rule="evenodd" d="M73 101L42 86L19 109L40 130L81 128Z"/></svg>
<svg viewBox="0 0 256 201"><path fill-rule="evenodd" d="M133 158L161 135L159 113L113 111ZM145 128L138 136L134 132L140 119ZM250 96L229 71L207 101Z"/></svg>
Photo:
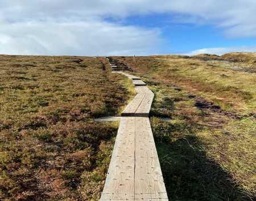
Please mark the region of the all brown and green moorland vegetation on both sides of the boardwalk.
<svg viewBox="0 0 256 201"><path fill-rule="evenodd" d="M169 198L254 200L255 54L114 58L155 93ZM0 55L0 199L98 200L118 123L94 118L130 95L104 58Z"/></svg>

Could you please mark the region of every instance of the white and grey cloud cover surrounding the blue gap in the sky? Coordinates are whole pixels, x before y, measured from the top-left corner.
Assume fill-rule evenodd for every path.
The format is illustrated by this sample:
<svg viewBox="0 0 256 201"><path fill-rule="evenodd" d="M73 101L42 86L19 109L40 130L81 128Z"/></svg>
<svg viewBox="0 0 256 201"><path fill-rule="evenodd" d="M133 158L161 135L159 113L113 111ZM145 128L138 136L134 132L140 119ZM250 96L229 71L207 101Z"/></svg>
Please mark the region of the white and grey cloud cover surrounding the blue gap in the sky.
<svg viewBox="0 0 256 201"><path fill-rule="evenodd" d="M2 0L0 54L157 54L164 43L160 29L117 23L154 13L211 24L227 37L256 37L255 10L255 0ZM195 51L224 51L217 49Z"/></svg>

